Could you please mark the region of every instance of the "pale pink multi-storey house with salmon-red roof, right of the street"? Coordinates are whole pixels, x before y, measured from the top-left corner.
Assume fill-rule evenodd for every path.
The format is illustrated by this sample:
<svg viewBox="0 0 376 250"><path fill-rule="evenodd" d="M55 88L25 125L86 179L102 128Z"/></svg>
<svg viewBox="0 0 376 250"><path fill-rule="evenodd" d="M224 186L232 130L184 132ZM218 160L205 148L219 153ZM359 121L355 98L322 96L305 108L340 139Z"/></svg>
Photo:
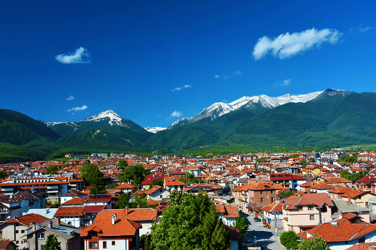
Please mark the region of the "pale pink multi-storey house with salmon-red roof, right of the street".
<svg viewBox="0 0 376 250"><path fill-rule="evenodd" d="M291 196L281 202L283 207L284 230L296 233L310 229L332 220L331 208L334 206L324 193L307 193Z"/></svg>

